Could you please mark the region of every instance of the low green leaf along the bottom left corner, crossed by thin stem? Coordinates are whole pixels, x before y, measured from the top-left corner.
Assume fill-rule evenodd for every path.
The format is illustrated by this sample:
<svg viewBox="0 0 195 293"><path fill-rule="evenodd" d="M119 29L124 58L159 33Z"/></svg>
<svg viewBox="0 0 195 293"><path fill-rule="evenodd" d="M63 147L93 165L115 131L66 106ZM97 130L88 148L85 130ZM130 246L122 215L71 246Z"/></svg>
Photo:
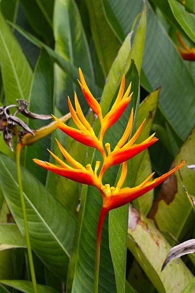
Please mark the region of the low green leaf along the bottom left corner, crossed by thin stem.
<svg viewBox="0 0 195 293"><path fill-rule="evenodd" d="M12 288L15 288L17 290L20 290L24 293L34 293L33 290L33 284L29 281L24 280L0 280L0 283L10 286ZM39 293L58 293L55 289L45 286L45 285L39 285L37 284L37 290Z"/></svg>

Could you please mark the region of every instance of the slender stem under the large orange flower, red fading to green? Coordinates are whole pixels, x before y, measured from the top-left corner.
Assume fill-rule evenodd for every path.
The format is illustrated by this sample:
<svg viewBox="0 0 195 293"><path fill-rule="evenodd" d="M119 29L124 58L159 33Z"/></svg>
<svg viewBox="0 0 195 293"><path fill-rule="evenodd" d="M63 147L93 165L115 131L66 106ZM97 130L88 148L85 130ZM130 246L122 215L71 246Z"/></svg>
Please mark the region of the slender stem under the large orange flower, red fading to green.
<svg viewBox="0 0 195 293"><path fill-rule="evenodd" d="M99 280L99 261L100 261L100 245L101 245L101 231L103 226L103 221L108 212L108 209L104 207L101 208L98 220L98 230L96 238L96 264L95 264L95 274L94 274L94 293L98 293L98 280Z"/></svg>

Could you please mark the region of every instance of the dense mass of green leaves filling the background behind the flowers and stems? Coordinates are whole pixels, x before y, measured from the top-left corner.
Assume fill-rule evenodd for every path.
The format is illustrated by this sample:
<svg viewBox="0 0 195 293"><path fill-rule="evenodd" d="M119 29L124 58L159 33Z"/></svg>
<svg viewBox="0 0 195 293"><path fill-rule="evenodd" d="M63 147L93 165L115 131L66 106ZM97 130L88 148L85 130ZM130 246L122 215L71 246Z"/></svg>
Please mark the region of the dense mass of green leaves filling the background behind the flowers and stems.
<svg viewBox="0 0 195 293"><path fill-rule="evenodd" d="M107 141L116 144L133 105L137 126L147 118L140 140L154 131L159 138L129 162L126 185L139 184L152 170L157 177L181 160L195 164L195 63L184 61L177 51L176 31L195 47L194 1L1 0L0 105L22 98L31 111L60 117L68 112L67 95L73 100L77 91L98 133L98 121L78 86L78 67L103 114L125 74L133 84L133 101L106 133ZM48 123L25 122L32 129ZM101 197L95 188L32 162L35 157L52 160L46 148L58 154L55 137L81 164L93 165L98 158L98 152L93 154L59 130L22 150L38 291L91 293ZM119 166L112 168L105 180L114 185L118 172ZM161 272L169 249L195 238L193 208L183 185L195 195L195 172L186 165L130 208L110 212L102 232L99 292L194 292L193 254L172 261ZM0 223L0 292L31 293L15 153L2 135Z"/></svg>

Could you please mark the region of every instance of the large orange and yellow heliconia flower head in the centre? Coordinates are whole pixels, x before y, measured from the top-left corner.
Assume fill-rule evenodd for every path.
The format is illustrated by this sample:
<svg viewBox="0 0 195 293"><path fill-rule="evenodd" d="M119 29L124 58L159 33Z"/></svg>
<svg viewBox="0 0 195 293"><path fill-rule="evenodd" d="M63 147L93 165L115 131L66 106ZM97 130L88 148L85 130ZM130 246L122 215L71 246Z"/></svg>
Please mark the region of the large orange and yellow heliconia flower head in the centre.
<svg viewBox="0 0 195 293"><path fill-rule="evenodd" d="M94 98L94 96L90 92L80 68L79 68L79 77L80 77L80 81L78 82L86 98L86 101L89 104L89 106L92 108L92 110L98 115L98 118L100 120L101 129L100 129L99 138L96 136L93 128L84 117L82 109L78 102L78 97L76 93L75 93L75 106L76 106L77 112L75 111L69 97L68 97L68 105L69 105L71 116L75 124L78 126L78 129L67 126L58 118L54 116L53 117L57 121L56 126L58 126L67 135L71 136L73 139L77 140L78 142L86 146L97 148L100 151L103 157L103 163L99 172L98 172L98 169L101 164L100 161L96 162L96 166L94 170L92 169L90 164L84 167L80 163L78 163L74 158L72 158L70 154L64 149L63 146L61 146L61 144L58 141L57 143L61 153L63 154L64 158L72 166L69 166L66 163L64 163L64 161L59 159L51 151L49 151L50 154L57 160L59 165L43 162L38 159L34 159L34 162L37 163L39 166L44 167L68 179L77 181L79 183L97 187L99 191L101 192L101 195L103 198L103 208L109 211L111 209L115 209L129 203L132 200L136 199L137 197L141 196L142 194L148 192L152 188L155 188L163 180L165 180L173 172L175 172L178 168L182 167L185 164L185 162L181 162L181 164L179 164L173 170L169 171L168 173L152 181L149 181L149 180L152 178L154 173L152 173L144 182L142 182L137 187L121 188L127 175L127 161L131 159L132 157L136 156L138 153L140 153L147 147L154 144L158 139L155 137L155 133L154 133L142 143L136 144L136 140L138 136L140 135L142 128L144 126L144 123L145 123L145 120L144 120L142 124L139 126L139 128L137 129L136 133L127 142L132 130L132 126L133 126L133 109L132 109L126 129L121 139L117 143L117 146L115 146L114 150L111 151L110 144L106 143L104 148L102 141L103 141L103 137L106 130L109 127L111 127L114 123L116 123L116 121L119 119L119 117L122 115L123 111L129 104L129 102L131 101L131 97L133 94L133 92L130 94L131 83L129 84L126 92L124 93L125 76L122 77L117 99L114 105L112 106L111 110L103 118L101 107L98 104L98 101ZM121 171L120 179L117 183L117 186L110 187L109 184L102 185L102 177L104 175L104 172L109 167L117 165L117 164L121 164L121 163L123 164L122 171Z"/></svg>

